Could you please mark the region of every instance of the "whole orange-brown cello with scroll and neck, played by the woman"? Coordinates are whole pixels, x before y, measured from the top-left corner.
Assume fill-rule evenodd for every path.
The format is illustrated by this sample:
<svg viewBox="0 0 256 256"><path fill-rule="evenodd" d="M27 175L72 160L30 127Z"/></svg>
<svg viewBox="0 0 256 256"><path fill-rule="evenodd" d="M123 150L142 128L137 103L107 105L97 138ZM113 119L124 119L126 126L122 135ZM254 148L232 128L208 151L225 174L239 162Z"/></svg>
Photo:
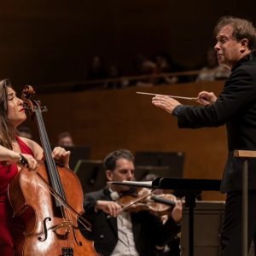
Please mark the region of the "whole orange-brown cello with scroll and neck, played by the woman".
<svg viewBox="0 0 256 256"><path fill-rule="evenodd" d="M24 239L15 244L15 255L96 256L93 241L87 240L78 222L90 230L81 217L83 190L79 178L65 166L57 166L51 156L40 102L32 99L32 86L26 85L21 99L38 125L44 160L36 171L24 166L9 183L9 201L15 216L24 222Z"/></svg>

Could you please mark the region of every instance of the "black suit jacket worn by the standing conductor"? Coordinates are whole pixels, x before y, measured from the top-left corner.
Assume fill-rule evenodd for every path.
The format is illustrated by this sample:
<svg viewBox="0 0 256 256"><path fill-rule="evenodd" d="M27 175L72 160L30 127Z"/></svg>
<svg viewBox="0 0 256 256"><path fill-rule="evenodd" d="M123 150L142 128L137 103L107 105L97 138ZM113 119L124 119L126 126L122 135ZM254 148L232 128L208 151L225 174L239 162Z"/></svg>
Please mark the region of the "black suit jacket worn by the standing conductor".
<svg viewBox="0 0 256 256"><path fill-rule="evenodd" d="M207 107L181 109L178 117L181 128L200 128L226 124L229 155L221 191L241 190L242 160L233 151L256 150L256 56L247 55L236 63L218 100ZM249 160L249 189L256 189L256 161Z"/></svg>

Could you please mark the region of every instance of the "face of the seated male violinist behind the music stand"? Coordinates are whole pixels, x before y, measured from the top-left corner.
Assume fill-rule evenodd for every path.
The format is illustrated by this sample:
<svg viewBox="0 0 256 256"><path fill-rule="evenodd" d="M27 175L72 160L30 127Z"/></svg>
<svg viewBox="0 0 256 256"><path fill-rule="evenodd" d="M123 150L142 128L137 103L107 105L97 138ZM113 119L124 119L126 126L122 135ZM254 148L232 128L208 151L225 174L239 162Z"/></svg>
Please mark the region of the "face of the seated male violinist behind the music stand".
<svg viewBox="0 0 256 256"><path fill-rule="evenodd" d="M113 171L106 172L109 181L132 181L134 180L134 163L131 160L120 158L116 161L116 167ZM111 189L115 191L129 190L127 186L112 185Z"/></svg>

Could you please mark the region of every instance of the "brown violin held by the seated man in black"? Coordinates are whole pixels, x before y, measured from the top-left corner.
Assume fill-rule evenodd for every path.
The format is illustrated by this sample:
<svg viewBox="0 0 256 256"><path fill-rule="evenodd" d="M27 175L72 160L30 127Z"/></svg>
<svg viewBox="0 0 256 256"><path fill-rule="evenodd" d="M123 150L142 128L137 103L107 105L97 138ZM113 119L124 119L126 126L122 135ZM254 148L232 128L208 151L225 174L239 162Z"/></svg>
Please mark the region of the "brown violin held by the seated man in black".
<svg viewBox="0 0 256 256"><path fill-rule="evenodd" d="M156 190L139 188L134 193L121 195L117 203L122 207L121 212L148 211L155 216L163 216L172 213L177 198L172 194L156 195Z"/></svg>

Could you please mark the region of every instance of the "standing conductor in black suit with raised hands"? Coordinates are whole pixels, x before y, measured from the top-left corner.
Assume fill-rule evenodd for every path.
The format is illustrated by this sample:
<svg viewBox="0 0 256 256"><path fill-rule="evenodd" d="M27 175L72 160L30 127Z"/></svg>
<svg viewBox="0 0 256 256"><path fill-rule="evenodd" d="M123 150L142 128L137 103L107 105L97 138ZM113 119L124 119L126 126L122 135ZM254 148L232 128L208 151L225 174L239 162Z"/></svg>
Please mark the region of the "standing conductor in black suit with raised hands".
<svg viewBox="0 0 256 256"><path fill-rule="evenodd" d="M236 149L256 150L256 32L247 20L224 16L215 27L218 63L228 67L230 77L217 97L202 91L203 106L184 106L167 96L154 96L152 103L177 117L180 128L226 125L229 155L221 191L227 193L221 230L223 256L241 256L241 166ZM248 163L248 247L256 240L256 161Z"/></svg>

